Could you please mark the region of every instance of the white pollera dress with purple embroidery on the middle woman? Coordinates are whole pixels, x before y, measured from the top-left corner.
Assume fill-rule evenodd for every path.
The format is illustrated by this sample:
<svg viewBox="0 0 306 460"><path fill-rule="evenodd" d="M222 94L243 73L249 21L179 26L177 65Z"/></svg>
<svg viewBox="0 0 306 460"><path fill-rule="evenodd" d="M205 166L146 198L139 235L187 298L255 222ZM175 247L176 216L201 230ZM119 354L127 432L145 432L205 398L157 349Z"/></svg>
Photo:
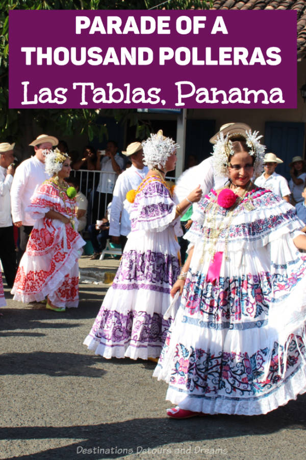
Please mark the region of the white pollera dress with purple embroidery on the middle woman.
<svg viewBox="0 0 306 460"><path fill-rule="evenodd" d="M84 344L105 358L147 359L160 355L171 320L163 314L180 269L175 203L165 182L150 176L129 212L119 268Z"/></svg>

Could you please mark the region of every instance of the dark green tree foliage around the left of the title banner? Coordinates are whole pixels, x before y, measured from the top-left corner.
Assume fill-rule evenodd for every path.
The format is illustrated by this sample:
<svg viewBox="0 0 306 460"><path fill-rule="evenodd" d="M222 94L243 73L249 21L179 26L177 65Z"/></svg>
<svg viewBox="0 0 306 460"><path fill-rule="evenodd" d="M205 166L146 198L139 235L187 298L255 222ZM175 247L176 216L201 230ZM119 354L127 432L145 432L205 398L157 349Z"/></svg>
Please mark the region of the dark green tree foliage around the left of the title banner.
<svg viewBox="0 0 306 460"><path fill-rule="evenodd" d="M158 6L161 3L160 6ZM9 109L8 108L8 57L9 10L116 10L116 9L207 9L205 0L0 0L0 139L22 142L24 132L33 137L34 126L48 131L50 124L62 136L87 133L89 141L107 136L107 128L97 123L99 110L95 109ZM104 111L105 112L105 111ZM129 119L137 125L140 137L146 135L146 124L141 123L134 109L107 110L117 122Z"/></svg>

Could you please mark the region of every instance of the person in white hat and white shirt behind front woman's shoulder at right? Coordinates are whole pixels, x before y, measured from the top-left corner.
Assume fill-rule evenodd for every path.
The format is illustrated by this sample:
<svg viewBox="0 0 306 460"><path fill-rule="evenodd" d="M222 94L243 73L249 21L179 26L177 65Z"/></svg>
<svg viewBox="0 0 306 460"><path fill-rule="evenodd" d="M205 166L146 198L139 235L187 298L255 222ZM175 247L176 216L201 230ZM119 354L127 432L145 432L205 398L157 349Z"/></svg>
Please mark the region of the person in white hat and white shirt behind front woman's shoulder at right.
<svg viewBox="0 0 306 460"><path fill-rule="evenodd" d="M276 174L275 168L278 164L284 163L281 158L272 153L266 153L264 156L264 172L254 182L258 187L271 190L275 195L281 196L284 200L290 201L290 189L285 177Z"/></svg>

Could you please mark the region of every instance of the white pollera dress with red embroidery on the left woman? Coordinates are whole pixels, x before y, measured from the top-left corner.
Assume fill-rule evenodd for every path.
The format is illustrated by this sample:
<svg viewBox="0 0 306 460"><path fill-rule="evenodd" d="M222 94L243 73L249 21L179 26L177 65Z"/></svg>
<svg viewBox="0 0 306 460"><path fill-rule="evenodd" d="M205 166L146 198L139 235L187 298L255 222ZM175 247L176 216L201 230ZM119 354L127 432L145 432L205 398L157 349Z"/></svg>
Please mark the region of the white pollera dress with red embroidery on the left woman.
<svg viewBox="0 0 306 460"><path fill-rule="evenodd" d="M68 198L54 179L46 180L33 195L27 212L35 219L27 249L15 278L14 300L40 302L46 295L60 308L78 307L79 264L85 241L71 224L44 215L57 211L69 219L75 215L75 198ZM65 186L67 189L68 186ZM78 227L77 221L74 225Z"/></svg>

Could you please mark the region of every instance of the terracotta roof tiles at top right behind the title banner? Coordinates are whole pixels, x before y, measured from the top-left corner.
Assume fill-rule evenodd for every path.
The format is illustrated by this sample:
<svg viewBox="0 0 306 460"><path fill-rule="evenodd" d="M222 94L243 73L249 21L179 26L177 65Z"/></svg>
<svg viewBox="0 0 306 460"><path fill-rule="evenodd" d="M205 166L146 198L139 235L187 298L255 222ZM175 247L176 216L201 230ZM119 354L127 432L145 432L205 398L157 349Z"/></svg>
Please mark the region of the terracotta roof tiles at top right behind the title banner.
<svg viewBox="0 0 306 460"><path fill-rule="evenodd" d="M297 57L306 57L305 0L214 0L212 10L295 10L297 11Z"/></svg>

